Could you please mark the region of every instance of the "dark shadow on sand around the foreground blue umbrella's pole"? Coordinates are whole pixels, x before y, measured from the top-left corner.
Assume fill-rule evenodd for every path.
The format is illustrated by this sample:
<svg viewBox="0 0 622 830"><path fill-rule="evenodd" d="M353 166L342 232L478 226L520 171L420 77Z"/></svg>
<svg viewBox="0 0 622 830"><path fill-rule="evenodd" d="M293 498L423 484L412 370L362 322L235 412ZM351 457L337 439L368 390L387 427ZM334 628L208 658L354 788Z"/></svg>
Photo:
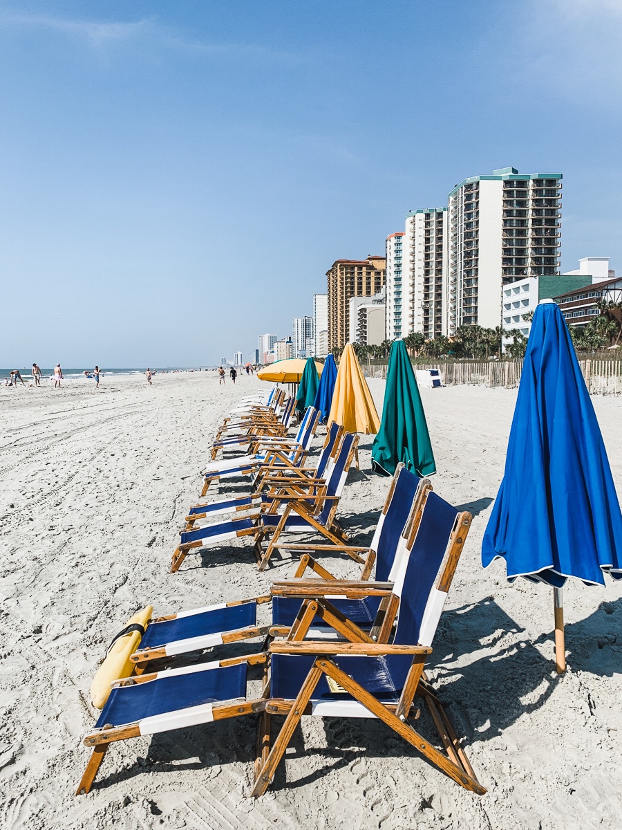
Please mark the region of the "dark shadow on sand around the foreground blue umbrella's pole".
<svg viewBox="0 0 622 830"><path fill-rule="evenodd" d="M469 740L488 740L544 706L563 679L555 671L553 632L535 641L493 599L443 614L430 666L440 696ZM545 645L549 654L543 654ZM566 625L571 671L622 674L622 599L600 603Z"/></svg>

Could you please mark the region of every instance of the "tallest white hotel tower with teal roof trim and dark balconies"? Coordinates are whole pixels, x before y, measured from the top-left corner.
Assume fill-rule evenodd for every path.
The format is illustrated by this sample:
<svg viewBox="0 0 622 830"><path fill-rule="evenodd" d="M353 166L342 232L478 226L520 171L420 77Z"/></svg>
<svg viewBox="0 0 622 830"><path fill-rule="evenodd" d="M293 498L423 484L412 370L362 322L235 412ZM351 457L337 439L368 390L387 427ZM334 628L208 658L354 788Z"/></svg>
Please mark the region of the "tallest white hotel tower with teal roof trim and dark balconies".
<svg viewBox="0 0 622 830"><path fill-rule="evenodd" d="M456 185L449 193L447 333L500 325L503 286L558 275L560 240L561 173L506 167Z"/></svg>

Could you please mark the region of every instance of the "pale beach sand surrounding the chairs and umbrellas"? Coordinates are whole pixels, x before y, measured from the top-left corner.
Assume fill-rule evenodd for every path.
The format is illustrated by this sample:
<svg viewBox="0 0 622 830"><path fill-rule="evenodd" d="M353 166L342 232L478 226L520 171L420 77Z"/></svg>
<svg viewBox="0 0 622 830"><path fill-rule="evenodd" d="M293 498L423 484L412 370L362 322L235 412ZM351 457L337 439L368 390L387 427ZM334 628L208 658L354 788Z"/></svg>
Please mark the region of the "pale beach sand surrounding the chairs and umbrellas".
<svg viewBox="0 0 622 830"><path fill-rule="evenodd" d="M380 408L383 383L370 385ZM466 386L422 393L435 491L474 513L431 674L488 793L466 793L376 721L306 718L259 801L248 798L252 719L114 745L92 792L74 797L95 722L90 680L126 619L147 603L172 613L253 596L294 569L277 560L258 574L241 541L167 573L216 422L259 386L244 376L219 388L202 373L156 376L152 388L106 377L99 392L80 381L0 389L3 826L620 827L622 585L566 588L569 669L556 676L552 592L508 586L503 564L484 571L479 559L516 393ZM622 399L594 403L622 493ZM361 541L388 487L370 472L371 444L363 438L341 508ZM352 573L341 559L327 564ZM425 712L420 730L435 737Z"/></svg>

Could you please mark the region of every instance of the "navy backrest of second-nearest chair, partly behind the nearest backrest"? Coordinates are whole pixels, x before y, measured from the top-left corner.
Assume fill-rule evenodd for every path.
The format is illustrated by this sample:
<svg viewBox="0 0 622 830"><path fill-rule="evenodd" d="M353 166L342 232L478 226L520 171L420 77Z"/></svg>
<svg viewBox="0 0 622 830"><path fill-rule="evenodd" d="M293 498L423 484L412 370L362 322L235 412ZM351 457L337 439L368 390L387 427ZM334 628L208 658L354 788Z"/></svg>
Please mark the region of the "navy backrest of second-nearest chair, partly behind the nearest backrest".
<svg viewBox="0 0 622 830"><path fill-rule="evenodd" d="M377 554L376 579L379 582L386 582L389 578L421 481L422 479L415 476L415 473L406 470L401 462L397 465L391 488L386 495L385 505L376 525L372 544L370 544Z"/></svg>

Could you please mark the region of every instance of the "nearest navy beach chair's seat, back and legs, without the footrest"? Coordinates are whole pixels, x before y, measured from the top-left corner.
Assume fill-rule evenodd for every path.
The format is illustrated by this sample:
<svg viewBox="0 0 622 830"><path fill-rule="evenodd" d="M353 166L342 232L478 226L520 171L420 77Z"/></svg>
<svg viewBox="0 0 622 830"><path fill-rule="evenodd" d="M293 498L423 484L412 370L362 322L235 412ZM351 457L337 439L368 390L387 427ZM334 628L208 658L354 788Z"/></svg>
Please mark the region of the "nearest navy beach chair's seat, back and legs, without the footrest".
<svg viewBox="0 0 622 830"><path fill-rule="evenodd" d="M470 523L469 513L457 512L430 493L415 535L409 540L409 553L392 585L340 579L323 582L319 591L314 579L273 585L275 597L280 593L307 598L288 639L270 644L270 701L260 718L260 758L255 767L253 796L262 795L270 785L303 715L377 717L465 789L485 792L444 707L423 676ZM387 601L384 621L375 637L344 618L327 599L330 594L360 598L369 588L377 588L377 595ZM394 634L393 609L397 615ZM316 615L333 625L345 642L304 639ZM429 707L447 755L408 723L415 694L422 696ZM273 714L286 718L270 749Z"/></svg>

